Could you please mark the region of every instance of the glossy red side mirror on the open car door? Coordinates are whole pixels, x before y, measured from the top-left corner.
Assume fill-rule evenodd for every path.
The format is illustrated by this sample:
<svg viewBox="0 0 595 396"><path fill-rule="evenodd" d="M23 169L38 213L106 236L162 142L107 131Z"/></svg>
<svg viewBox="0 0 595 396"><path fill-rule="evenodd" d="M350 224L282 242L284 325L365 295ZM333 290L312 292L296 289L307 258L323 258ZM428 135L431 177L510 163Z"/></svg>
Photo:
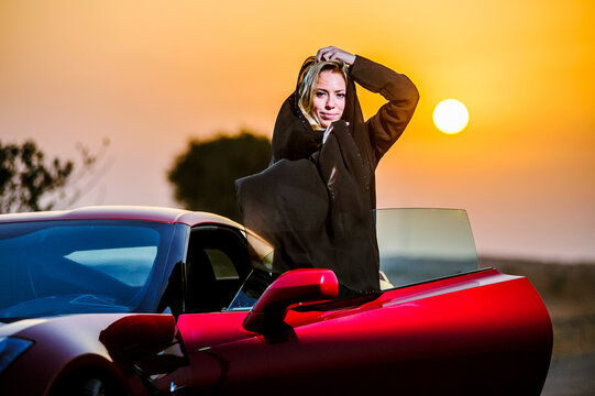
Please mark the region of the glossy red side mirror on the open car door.
<svg viewBox="0 0 595 396"><path fill-rule="evenodd" d="M330 270L294 270L268 286L244 319L244 329L266 332L284 323L287 308L299 302L337 298L339 282Z"/></svg>

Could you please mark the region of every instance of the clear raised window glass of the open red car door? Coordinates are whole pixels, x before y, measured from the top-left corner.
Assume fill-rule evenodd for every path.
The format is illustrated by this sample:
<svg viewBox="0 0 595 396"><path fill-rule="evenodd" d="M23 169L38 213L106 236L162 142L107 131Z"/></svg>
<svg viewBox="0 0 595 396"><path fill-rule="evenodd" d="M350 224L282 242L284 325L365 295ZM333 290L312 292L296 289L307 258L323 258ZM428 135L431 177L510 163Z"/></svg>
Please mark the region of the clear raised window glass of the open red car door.
<svg viewBox="0 0 595 396"><path fill-rule="evenodd" d="M480 267L467 215L458 209L378 209L381 288Z"/></svg>

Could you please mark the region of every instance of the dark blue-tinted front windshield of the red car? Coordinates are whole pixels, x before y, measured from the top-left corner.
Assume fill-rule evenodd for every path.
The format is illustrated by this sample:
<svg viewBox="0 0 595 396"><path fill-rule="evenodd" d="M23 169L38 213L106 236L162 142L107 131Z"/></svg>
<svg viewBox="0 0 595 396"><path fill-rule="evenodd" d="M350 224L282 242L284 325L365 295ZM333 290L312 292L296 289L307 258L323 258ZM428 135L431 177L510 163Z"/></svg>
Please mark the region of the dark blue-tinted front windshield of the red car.
<svg viewBox="0 0 595 396"><path fill-rule="evenodd" d="M0 318L133 310L170 229L122 220L2 224Z"/></svg>

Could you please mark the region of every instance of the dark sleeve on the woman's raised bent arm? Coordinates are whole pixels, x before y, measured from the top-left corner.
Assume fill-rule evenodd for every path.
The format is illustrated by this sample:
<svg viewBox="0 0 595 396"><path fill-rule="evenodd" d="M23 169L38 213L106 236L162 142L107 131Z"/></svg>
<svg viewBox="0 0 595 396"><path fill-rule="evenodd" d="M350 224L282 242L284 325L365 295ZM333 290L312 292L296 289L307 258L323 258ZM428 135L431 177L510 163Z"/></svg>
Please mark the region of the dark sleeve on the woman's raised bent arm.
<svg viewBox="0 0 595 396"><path fill-rule="evenodd" d="M365 89L381 94L388 103L366 121L376 163L390 148L414 116L419 92L411 80L388 67L357 55L350 75Z"/></svg>

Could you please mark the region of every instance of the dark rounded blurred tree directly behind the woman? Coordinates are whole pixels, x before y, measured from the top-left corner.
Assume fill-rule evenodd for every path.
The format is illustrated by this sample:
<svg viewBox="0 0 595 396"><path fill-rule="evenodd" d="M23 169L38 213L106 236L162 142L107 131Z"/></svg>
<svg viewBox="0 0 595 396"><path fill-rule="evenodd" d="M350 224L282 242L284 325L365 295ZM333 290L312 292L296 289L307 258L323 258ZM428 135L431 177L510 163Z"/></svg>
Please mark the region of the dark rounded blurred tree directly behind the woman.
<svg viewBox="0 0 595 396"><path fill-rule="evenodd" d="M271 142L250 131L190 141L168 173L175 198L190 210L205 210L241 221L236 202L238 178L258 173L271 161Z"/></svg>

